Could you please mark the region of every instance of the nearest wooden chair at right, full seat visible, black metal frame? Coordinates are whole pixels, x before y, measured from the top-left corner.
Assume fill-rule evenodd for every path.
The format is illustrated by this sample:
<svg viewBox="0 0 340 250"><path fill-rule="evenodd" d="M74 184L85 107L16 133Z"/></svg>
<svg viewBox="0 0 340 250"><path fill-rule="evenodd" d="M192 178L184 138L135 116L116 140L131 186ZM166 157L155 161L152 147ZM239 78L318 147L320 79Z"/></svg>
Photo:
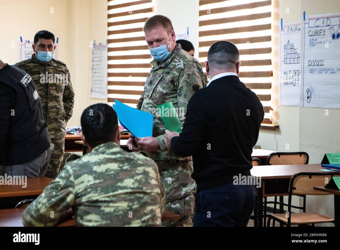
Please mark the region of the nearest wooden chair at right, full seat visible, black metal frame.
<svg viewBox="0 0 340 250"><path fill-rule="evenodd" d="M314 186L324 186L325 178L330 178L332 176L339 176L339 174L329 174L329 173L297 173L292 176L289 183L289 195L288 195L288 214L271 214L268 218L267 226L270 226L270 220L278 221L284 225L290 227L291 225L300 224L311 224L314 227L316 223L334 223L333 218L324 216L315 212L303 212L303 213L292 213L291 212L291 201L293 195L330 195L323 191L314 190Z"/></svg>

